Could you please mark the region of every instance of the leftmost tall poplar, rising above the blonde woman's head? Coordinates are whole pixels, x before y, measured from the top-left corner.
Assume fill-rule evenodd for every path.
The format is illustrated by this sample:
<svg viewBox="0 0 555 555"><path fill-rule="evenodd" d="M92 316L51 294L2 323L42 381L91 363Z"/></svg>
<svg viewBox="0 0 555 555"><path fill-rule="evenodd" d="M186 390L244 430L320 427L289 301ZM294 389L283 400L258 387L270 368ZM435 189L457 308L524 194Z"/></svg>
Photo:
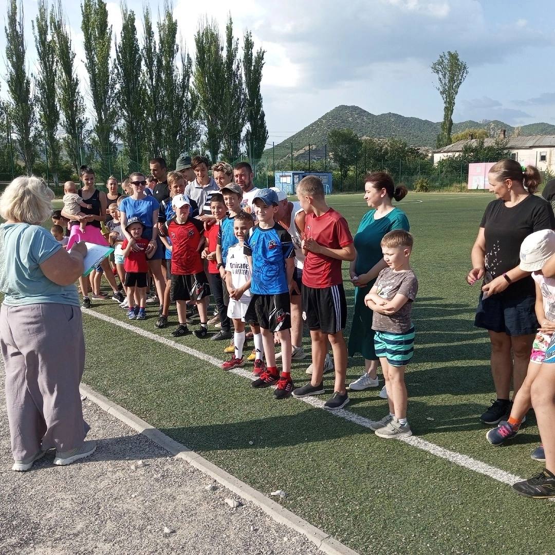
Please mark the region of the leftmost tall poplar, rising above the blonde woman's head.
<svg viewBox="0 0 555 555"><path fill-rule="evenodd" d="M25 164L27 175L31 175L37 158L36 99L31 91L31 78L25 62L23 6L19 4L18 12L17 0L9 0L6 25L8 112L16 134L16 150Z"/></svg>

